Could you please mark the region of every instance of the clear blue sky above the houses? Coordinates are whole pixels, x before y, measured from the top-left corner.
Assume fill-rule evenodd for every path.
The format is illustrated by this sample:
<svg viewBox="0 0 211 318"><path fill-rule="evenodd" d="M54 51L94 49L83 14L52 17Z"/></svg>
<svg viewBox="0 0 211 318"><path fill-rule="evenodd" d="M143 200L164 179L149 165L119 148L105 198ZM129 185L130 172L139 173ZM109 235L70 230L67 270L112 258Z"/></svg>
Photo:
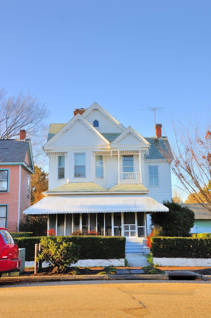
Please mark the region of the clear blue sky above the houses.
<svg viewBox="0 0 211 318"><path fill-rule="evenodd" d="M210 1L2 1L0 87L30 90L67 122L94 101L153 136L152 112L194 112L211 98ZM185 119L184 119L185 120Z"/></svg>

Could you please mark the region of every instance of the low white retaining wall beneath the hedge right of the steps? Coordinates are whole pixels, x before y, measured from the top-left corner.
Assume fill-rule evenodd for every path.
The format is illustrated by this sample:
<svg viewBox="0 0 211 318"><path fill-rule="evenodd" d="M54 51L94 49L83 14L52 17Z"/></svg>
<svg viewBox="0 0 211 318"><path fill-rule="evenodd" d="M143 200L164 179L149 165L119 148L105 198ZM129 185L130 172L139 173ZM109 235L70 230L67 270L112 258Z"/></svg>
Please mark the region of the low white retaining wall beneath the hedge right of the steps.
<svg viewBox="0 0 211 318"><path fill-rule="evenodd" d="M153 257L153 263L161 266L211 266L211 259Z"/></svg>

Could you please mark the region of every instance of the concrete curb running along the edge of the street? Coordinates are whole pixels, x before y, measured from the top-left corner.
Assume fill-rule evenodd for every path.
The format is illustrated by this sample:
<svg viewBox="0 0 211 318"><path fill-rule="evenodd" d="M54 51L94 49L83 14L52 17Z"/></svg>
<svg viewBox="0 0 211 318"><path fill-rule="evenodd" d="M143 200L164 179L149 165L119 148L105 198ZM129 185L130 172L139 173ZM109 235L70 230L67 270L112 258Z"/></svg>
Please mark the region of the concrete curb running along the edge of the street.
<svg viewBox="0 0 211 318"><path fill-rule="evenodd" d="M211 275L197 275L197 279L211 280ZM61 275L61 276L14 276L3 277L0 283L22 281L74 281L74 280L168 280L168 275Z"/></svg>

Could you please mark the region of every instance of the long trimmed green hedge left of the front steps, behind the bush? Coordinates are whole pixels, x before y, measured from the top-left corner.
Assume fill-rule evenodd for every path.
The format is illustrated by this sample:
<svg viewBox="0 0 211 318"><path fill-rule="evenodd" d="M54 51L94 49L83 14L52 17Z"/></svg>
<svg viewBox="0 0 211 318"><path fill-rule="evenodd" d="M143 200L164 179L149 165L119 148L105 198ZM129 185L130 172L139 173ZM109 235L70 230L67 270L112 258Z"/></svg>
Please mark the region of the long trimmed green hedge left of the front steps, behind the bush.
<svg viewBox="0 0 211 318"><path fill-rule="evenodd" d="M54 239L54 237L51 237ZM26 261L34 260L35 244L41 237L20 237L15 241L19 248L26 249ZM73 242L79 248L79 259L125 258L126 238L121 236L63 236L65 242Z"/></svg>

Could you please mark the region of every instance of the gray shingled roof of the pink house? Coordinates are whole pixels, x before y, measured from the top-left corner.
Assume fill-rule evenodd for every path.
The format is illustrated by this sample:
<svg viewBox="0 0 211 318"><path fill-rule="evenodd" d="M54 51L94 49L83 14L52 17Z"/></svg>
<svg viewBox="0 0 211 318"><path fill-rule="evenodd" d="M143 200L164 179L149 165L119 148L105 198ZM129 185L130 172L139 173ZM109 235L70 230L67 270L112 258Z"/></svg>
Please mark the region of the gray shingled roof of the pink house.
<svg viewBox="0 0 211 318"><path fill-rule="evenodd" d="M28 151L30 167L34 170L30 139L19 141L18 139L1 139L0 140L0 164L6 162L25 162L26 153Z"/></svg>

